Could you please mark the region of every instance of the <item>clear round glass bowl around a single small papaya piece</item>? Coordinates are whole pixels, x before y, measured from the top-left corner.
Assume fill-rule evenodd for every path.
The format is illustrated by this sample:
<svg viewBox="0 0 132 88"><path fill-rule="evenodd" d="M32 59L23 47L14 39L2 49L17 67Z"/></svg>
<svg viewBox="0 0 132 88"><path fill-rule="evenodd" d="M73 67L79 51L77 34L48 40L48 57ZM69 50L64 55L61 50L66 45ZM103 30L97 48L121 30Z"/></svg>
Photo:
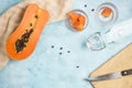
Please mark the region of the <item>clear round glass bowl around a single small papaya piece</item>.
<svg viewBox="0 0 132 88"><path fill-rule="evenodd" d="M105 18L103 15L101 15L102 11L108 8L111 10L111 14L109 18ZM117 18L118 18L118 9L117 7L111 3L111 2L105 2L105 3L101 3L98 8L97 8L97 19L99 21L99 23L106 25L106 24L110 24L110 23L113 23Z"/></svg>

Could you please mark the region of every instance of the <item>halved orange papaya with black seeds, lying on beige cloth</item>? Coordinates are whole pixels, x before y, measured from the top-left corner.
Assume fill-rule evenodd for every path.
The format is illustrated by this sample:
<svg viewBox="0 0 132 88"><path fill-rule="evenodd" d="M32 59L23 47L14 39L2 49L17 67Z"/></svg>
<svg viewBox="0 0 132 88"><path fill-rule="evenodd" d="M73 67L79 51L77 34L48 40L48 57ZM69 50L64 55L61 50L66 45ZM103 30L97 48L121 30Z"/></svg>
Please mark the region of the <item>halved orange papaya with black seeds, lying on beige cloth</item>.
<svg viewBox="0 0 132 88"><path fill-rule="evenodd" d="M22 21L6 43L7 54L11 59L25 59L33 53L48 18L48 11L35 3L26 8Z"/></svg>

